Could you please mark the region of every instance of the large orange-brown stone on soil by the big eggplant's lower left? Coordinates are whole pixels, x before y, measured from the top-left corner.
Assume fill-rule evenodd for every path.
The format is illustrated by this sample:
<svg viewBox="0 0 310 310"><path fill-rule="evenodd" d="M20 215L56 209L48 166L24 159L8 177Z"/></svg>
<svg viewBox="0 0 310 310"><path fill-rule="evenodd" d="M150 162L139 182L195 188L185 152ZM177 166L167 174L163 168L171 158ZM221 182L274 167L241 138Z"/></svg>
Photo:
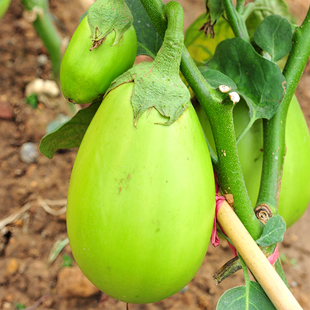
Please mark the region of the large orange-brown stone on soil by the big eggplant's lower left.
<svg viewBox="0 0 310 310"><path fill-rule="evenodd" d="M62 297L87 298L100 290L89 281L78 266L64 267L58 273L57 291Z"/></svg>

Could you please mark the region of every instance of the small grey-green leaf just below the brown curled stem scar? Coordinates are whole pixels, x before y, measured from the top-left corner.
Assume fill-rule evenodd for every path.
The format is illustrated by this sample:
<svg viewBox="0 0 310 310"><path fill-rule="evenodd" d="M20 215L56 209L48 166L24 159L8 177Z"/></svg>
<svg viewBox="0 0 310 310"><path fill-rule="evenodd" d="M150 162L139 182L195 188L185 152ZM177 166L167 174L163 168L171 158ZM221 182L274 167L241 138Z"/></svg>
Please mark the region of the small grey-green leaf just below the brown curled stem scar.
<svg viewBox="0 0 310 310"><path fill-rule="evenodd" d="M286 231L285 221L280 215L274 215L268 219L261 237L256 243L262 247L281 242Z"/></svg>

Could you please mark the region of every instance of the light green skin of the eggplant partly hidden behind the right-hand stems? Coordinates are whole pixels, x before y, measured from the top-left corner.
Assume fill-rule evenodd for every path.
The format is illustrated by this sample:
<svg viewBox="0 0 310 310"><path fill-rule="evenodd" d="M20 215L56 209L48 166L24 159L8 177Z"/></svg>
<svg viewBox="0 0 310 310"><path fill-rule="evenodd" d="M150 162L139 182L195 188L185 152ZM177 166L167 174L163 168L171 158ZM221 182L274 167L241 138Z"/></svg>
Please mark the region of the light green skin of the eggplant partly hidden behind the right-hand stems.
<svg viewBox="0 0 310 310"><path fill-rule="evenodd" d="M210 123L201 107L197 114L208 141L215 150ZM236 137L249 122L249 108L244 100L233 109ZM294 95L286 118L286 155L283 166L278 213L292 226L303 215L310 201L310 137L303 112ZM247 191L255 206L263 165L263 122L256 120L238 143L238 154Z"/></svg>

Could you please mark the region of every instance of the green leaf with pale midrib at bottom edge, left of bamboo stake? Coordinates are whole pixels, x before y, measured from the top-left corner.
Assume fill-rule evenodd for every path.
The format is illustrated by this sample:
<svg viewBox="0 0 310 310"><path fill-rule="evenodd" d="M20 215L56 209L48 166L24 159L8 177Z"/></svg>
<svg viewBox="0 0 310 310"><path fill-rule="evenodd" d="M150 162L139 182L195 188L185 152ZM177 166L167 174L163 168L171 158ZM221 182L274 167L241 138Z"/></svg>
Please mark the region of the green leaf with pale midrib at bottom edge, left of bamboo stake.
<svg viewBox="0 0 310 310"><path fill-rule="evenodd" d="M216 310L276 309L259 283L250 281L250 285L237 286L227 290L220 298Z"/></svg>

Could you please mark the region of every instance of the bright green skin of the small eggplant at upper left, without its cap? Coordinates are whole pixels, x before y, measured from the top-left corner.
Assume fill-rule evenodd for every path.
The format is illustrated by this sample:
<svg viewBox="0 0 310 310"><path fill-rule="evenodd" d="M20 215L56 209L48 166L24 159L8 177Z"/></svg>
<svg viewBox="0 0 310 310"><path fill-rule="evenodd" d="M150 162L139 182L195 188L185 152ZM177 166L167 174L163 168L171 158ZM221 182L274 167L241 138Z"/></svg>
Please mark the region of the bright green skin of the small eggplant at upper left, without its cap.
<svg viewBox="0 0 310 310"><path fill-rule="evenodd" d="M90 51L91 29L87 15L83 18L66 49L60 66L60 83L64 97L76 104L102 99L111 82L132 67L137 53L137 36L131 26L114 42L114 31L103 44Z"/></svg>

